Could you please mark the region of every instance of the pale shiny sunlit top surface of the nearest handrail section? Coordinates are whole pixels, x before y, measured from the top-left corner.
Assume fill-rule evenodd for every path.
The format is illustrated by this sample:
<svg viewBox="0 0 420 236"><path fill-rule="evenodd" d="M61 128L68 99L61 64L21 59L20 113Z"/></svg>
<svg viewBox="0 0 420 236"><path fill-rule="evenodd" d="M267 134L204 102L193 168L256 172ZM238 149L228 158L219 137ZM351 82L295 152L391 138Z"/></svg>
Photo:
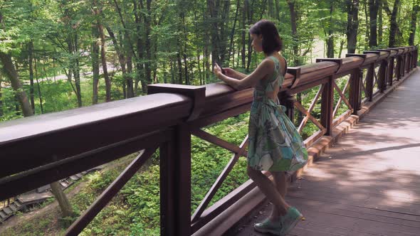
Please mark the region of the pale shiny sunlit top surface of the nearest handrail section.
<svg viewBox="0 0 420 236"><path fill-rule="evenodd" d="M0 148L11 141L18 141L31 136L41 136L47 133L61 132L65 129L91 126L109 119L123 120L125 117L132 115L143 117L154 109L165 109L179 105L189 107L191 100L183 95L161 93L2 122L0 123ZM154 117L154 121L159 122L159 119L170 118ZM148 126L149 124L143 125Z"/></svg>

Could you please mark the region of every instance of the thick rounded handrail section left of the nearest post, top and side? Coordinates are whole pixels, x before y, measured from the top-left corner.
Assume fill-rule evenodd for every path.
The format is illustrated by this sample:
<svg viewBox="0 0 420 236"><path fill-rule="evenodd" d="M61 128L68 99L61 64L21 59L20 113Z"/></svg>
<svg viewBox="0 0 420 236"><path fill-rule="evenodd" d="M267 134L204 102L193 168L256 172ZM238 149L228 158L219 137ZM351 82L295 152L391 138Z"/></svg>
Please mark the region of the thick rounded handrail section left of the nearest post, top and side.
<svg viewBox="0 0 420 236"><path fill-rule="evenodd" d="M0 124L0 178L179 124L189 97L160 93Z"/></svg>

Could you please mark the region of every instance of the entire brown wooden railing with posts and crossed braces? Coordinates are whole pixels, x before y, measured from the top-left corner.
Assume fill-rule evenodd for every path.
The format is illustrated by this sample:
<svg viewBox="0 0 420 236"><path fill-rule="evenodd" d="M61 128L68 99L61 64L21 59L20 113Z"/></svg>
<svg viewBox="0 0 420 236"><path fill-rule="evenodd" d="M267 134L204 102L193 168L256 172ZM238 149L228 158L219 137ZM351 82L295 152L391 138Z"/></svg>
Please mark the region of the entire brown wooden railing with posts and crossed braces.
<svg viewBox="0 0 420 236"><path fill-rule="evenodd" d="M279 98L290 119L295 112L303 114L300 132L308 122L319 129L305 140L310 146L411 72L417 57L417 48L410 46L318 59L311 65L288 68ZM339 80L347 80L344 87L337 85ZM314 87L319 89L305 108L295 94ZM149 85L148 91L143 97L0 124L0 200L142 150L66 232L78 235L158 148L162 235L191 235L256 188L247 181L208 207L239 156L246 156L247 137L236 146L201 129L247 112L252 88L234 91L223 83L157 84ZM318 118L312 112L320 99ZM339 114L342 105L347 110ZM192 217L191 134L233 153Z"/></svg>

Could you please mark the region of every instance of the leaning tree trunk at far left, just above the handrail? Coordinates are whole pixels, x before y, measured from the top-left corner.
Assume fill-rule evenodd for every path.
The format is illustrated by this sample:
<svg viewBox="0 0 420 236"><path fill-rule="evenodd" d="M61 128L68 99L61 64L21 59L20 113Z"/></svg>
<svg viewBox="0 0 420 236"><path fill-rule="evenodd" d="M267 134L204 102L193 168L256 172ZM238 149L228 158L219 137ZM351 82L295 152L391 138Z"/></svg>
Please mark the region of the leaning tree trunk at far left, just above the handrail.
<svg viewBox="0 0 420 236"><path fill-rule="evenodd" d="M26 92L22 88L19 75L16 72L14 64L11 60L11 55L0 51L0 60L1 64L3 64L4 73L6 73L7 77L9 77L11 87L16 92L16 97L18 97L19 104L21 104L23 116L29 117L33 115L31 104L28 101L28 97L26 97Z"/></svg>

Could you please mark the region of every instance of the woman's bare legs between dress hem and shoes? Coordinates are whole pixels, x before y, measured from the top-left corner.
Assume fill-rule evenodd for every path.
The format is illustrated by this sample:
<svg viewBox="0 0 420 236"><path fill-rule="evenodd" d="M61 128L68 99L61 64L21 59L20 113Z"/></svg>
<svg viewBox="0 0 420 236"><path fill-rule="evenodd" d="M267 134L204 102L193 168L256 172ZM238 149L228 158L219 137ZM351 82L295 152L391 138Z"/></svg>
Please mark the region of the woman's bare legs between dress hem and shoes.
<svg viewBox="0 0 420 236"><path fill-rule="evenodd" d="M258 188L260 188L261 192L263 192L266 195L268 200L270 200L271 203L273 203L275 210L277 210L276 213L278 213L278 216L285 215L290 205L288 205L288 203L285 203L283 196L280 194L281 190L278 191L278 188L274 186L274 184L270 181L270 179L266 175L261 173L261 171L256 171L249 166L248 166L248 176L256 183ZM283 176L284 176L284 173L283 173ZM285 187L282 187L280 189L283 189L283 188ZM285 193L285 191L283 191L282 193Z"/></svg>

